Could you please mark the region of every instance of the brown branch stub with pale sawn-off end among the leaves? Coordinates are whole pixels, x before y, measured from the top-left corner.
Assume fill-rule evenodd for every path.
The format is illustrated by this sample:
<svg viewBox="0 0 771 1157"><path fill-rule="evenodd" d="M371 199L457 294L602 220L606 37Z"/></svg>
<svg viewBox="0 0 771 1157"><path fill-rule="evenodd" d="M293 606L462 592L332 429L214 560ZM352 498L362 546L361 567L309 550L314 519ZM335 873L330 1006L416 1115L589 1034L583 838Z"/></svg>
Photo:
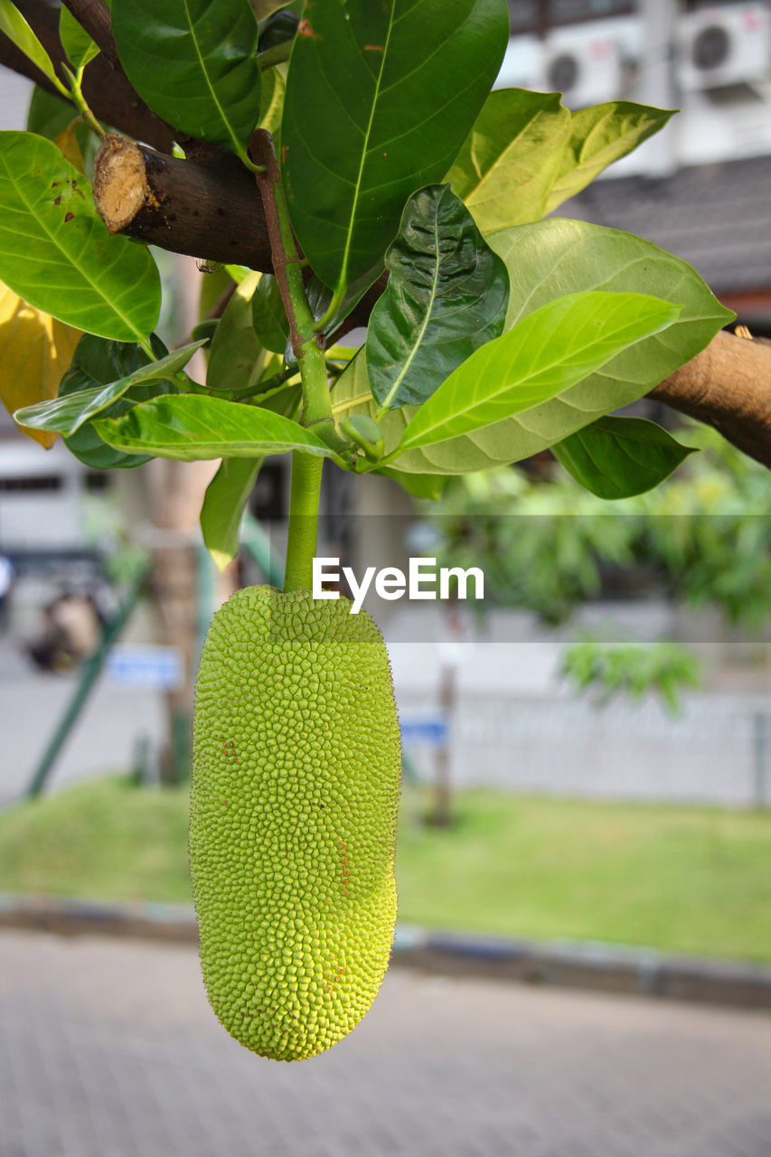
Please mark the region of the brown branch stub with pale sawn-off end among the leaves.
<svg viewBox="0 0 771 1157"><path fill-rule="evenodd" d="M110 134L96 155L94 200L110 233L208 261L271 270L255 179L238 162L213 168L181 161Z"/></svg>

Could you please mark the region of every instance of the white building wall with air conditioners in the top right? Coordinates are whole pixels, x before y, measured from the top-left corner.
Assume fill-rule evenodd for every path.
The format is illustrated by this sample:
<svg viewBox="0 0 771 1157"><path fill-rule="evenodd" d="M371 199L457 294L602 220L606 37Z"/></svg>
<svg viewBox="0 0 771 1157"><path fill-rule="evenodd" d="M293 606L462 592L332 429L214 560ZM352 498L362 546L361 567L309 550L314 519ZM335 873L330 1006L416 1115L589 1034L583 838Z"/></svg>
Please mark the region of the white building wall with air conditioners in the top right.
<svg viewBox="0 0 771 1157"><path fill-rule="evenodd" d="M575 12L586 17L590 7ZM713 67L699 65L721 51ZM574 84L563 89L570 61ZM771 3L710 3L684 12L676 0L640 0L634 14L560 23L544 39L535 31L515 35L498 83L564 90L572 109L630 100L682 110L663 133L612 165L611 177L655 170L663 146L670 165L765 155L771 153Z"/></svg>

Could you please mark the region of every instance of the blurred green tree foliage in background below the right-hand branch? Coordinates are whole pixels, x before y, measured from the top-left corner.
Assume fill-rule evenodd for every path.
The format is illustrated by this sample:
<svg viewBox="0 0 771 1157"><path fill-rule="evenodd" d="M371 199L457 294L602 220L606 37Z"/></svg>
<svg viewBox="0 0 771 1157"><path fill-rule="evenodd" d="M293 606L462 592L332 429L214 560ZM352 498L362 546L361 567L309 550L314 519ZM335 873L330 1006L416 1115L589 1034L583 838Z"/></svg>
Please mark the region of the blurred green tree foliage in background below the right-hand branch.
<svg viewBox="0 0 771 1157"><path fill-rule="evenodd" d="M480 566L491 603L552 625L600 595L609 572L636 566L668 597L761 627L771 618L769 473L715 430L681 433L703 452L655 489L612 503L556 464L538 477L511 466L451 479L428 515L439 565Z"/></svg>

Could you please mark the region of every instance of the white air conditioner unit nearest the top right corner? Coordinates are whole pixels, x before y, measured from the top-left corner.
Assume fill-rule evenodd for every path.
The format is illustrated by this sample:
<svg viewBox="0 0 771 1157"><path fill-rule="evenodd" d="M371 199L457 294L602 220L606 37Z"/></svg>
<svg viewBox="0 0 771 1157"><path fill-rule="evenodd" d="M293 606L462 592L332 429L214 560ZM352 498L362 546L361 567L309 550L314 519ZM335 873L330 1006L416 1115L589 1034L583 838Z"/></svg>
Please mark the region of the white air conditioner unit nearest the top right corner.
<svg viewBox="0 0 771 1157"><path fill-rule="evenodd" d="M678 29L678 79L685 91L766 80L771 10L762 3L700 8Z"/></svg>

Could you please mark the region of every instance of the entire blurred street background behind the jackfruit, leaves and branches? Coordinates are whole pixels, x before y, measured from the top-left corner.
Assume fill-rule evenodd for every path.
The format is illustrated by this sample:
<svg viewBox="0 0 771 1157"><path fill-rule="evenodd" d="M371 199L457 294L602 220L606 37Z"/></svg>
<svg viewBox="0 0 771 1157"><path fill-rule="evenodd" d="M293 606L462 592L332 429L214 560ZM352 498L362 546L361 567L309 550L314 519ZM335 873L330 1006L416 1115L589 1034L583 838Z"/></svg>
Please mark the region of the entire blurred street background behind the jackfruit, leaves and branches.
<svg viewBox="0 0 771 1157"><path fill-rule="evenodd" d="M560 215L684 258L771 338L771 5L509 9L499 84L682 110ZM1 128L31 88L0 72ZM157 257L175 342L213 277ZM438 502L325 473L320 555L478 566L485 599L365 603L403 729L404 968L291 1069L208 1011L186 863L200 647L229 591L280 582L288 459L220 573L216 464L102 471L0 412L0 1157L771 1155L771 481L630 412L700 452L612 504L548 452Z"/></svg>

